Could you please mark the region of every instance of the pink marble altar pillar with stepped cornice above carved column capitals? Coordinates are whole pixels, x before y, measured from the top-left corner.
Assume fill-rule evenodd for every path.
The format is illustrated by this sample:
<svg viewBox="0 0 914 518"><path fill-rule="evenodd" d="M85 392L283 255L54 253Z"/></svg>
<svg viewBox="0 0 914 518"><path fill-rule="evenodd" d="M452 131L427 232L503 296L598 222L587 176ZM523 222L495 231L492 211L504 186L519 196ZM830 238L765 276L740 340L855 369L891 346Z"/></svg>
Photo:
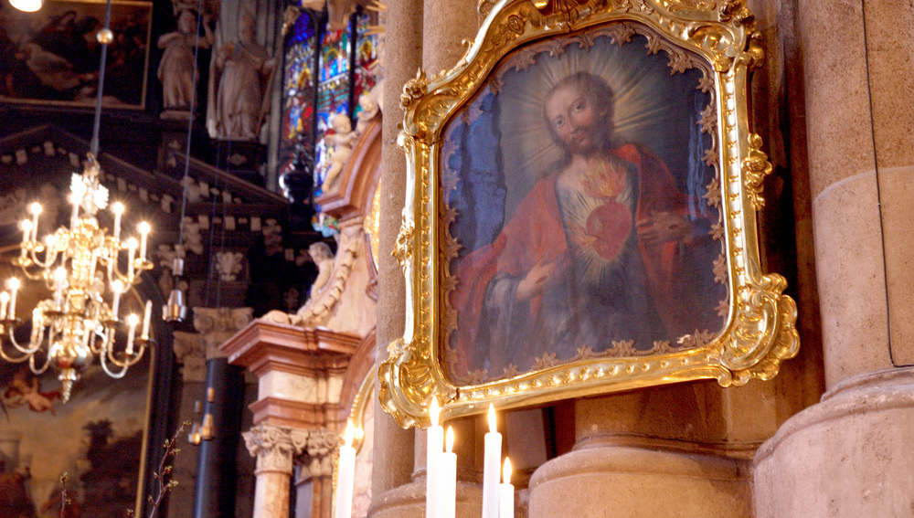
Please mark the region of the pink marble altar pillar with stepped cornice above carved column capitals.
<svg viewBox="0 0 914 518"><path fill-rule="evenodd" d="M257 320L220 346L229 363L247 367L258 377L258 400L250 405L254 424L295 431L277 448L301 456L303 465L296 477L299 501L310 502L303 512L313 518L329 518L333 509L333 457L343 428L340 392L361 340L353 334ZM252 443L247 444L250 449ZM262 498L288 501L292 460L282 464L282 477L281 470L261 469L268 466L263 462L258 456L254 515L286 518L287 503L281 508ZM269 514L273 512L282 514Z"/></svg>

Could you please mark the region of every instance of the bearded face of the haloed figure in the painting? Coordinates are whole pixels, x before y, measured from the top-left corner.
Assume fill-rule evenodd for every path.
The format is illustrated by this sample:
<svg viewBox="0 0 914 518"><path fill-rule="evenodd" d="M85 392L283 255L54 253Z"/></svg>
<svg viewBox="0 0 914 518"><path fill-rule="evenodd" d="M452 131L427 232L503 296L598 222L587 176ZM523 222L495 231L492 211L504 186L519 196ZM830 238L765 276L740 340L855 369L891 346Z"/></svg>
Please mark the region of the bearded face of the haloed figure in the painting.
<svg viewBox="0 0 914 518"><path fill-rule="evenodd" d="M552 132L573 154L588 155L607 140L606 114L590 92L570 82L558 87L546 100L546 119Z"/></svg>

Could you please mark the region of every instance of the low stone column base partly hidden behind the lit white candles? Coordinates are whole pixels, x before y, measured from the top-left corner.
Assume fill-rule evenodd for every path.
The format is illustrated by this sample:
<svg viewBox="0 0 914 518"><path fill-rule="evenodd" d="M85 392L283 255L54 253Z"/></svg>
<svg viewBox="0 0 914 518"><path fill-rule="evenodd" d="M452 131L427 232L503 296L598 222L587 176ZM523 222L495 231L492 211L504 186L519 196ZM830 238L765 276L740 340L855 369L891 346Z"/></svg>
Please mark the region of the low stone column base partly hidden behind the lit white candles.
<svg viewBox="0 0 914 518"><path fill-rule="evenodd" d="M483 489L476 484L457 482L457 518L479 518L483 508ZM371 518L425 518L425 478L372 498Z"/></svg>

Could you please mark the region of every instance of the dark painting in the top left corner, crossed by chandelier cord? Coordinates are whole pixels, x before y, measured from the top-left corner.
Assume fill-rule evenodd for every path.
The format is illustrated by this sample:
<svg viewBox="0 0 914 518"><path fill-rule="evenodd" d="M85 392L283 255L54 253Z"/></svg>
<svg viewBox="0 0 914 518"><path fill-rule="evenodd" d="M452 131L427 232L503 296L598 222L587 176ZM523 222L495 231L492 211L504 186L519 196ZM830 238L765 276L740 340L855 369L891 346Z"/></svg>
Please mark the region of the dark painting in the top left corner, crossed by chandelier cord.
<svg viewBox="0 0 914 518"><path fill-rule="evenodd" d="M102 102L142 110L146 99L152 2L114 0ZM40 10L0 10L0 101L95 105L105 3L48 0Z"/></svg>

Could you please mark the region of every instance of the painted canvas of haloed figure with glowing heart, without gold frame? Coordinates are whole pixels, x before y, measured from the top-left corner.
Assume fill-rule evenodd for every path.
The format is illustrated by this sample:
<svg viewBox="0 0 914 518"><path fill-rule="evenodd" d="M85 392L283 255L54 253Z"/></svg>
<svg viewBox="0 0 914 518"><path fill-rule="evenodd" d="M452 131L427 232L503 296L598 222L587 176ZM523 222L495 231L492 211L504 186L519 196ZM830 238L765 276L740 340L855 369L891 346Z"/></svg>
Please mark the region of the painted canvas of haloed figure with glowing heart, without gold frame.
<svg viewBox="0 0 914 518"><path fill-rule="evenodd" d="M716 176L701 159L710 96L700 69L671 79L643 40L516 53L445 133L454 380L669 352L721 331Z"/></svg>

